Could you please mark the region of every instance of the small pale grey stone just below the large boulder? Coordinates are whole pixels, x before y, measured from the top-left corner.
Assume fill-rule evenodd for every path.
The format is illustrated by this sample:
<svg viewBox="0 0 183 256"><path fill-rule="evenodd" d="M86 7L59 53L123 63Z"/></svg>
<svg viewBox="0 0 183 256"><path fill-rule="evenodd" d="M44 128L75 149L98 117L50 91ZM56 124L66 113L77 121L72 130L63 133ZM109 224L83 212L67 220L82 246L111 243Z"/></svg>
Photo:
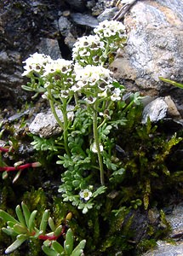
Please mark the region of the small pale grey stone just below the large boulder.
<svg viewBox="0 0 183 256"><path fill-rule="evenodd" d="M142 113L142 124L145 124L148 117L152 122L157 122L167 115L168 105L163 98L157 98L146 105Z"/></svg>

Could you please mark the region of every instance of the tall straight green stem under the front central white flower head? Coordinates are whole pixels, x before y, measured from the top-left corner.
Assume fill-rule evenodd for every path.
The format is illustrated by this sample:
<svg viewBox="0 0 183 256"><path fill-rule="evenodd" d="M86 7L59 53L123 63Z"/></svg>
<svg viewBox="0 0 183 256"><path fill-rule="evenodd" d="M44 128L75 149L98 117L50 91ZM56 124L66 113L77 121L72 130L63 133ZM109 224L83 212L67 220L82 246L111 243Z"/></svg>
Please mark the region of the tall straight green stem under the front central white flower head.
<svg viewBox="0 0 183 256"><path fill-rule="evenodd" d="M99 133L97 129L97 101L94 103L94 119L93 119L93 132L94 132L94 143L96 146L97 154L98 154L98 160L99 160L99 166L100 166L100 183L101 185L104 185L104 166L103 166L103 160L100 152L100 143L99 143Z"/></svg>

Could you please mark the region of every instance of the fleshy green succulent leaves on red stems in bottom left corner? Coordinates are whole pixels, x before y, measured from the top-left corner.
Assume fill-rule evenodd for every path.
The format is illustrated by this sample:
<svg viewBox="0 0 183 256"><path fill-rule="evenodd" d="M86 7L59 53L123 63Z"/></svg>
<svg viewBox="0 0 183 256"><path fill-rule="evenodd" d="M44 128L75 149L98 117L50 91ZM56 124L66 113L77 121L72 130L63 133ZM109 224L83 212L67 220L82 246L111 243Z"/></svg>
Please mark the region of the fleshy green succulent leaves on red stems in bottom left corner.
<svg viewBox="0 0 183 256"><path fill-rule="evenodd" d="M80 241L77 247L74 245L74 236L71 229L66 231L66 224L55 226L53 218L49 216L49 211L45 210L41 218L40 224L37 224L37 210L30 212L24 202L15 208L18 219L13 218L8 212L0 210L0 218L7 223L7 227L3 228L3 232L9 236L15 236L16 240L5 250L5 253L12 253L21 246L26 240L43 240L43 252L47 255L68 255L79 256L83 253L83 247L86 241ZM68 216L68 215L67 215ZM66 221L68 217L66 216ZM47 226L51 232L47 232ZM56 241L60 236L65 234L66 240L64 247Z"/></svg>

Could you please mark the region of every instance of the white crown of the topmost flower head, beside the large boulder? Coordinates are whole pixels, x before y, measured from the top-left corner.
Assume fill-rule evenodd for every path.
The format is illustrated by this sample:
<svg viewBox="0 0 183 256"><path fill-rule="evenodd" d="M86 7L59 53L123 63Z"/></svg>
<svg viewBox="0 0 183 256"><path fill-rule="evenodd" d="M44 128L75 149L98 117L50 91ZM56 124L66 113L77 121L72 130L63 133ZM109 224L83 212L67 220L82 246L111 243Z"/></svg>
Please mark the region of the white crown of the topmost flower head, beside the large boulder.
<svg viewBox="0 0 183 256"><path fill-rule="evenodd" d="M100 38L121 38L125 34L125 26L117 20L104 20L100 22L99 26L94 28L94 32Z"/></svg>

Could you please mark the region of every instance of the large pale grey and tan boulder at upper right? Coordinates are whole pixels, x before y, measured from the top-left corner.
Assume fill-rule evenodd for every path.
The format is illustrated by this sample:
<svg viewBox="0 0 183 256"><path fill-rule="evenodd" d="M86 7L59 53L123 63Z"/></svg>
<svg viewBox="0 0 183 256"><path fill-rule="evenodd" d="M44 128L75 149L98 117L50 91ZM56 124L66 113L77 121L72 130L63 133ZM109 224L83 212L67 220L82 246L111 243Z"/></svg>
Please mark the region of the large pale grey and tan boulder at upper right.
<svg viewBox="0 0 183 256"><path fill-rule="evenodd" d="M131 81L129 90L155 96L163 86L169 90L159 76L183 81L182 16L183 2L178 0L137 1L125 15L128 44L118 52L112 70L117 79Z"/></svg>

